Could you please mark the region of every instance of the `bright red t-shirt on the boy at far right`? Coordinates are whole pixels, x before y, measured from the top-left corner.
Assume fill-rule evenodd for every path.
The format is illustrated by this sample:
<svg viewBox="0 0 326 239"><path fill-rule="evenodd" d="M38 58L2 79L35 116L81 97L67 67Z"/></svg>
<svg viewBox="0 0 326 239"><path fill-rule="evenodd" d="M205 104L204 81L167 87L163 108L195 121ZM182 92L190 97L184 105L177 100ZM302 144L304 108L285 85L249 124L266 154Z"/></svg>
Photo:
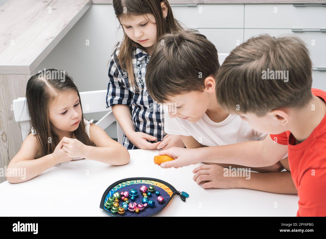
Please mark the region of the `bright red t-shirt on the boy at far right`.
<svg viewBox="0 0 326 239"><path fill-rule="evenodd" d="M312 93L326 102L325 91L312 89ZM288 145L290 171L299 196L297 217L325 217L326 114L309 137L297 145L290 131L270 136L273 140L276 137L277 143Z"/></svg>

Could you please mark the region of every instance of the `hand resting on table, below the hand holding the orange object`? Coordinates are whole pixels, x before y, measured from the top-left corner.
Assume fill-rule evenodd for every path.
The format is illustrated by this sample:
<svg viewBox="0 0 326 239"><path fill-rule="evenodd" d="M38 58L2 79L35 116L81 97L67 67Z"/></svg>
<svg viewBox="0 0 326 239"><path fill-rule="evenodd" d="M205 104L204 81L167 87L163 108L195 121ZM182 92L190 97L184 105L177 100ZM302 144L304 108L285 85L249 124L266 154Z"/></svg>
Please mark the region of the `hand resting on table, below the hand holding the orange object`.
<svg viewBox="0 0 326 239"><path fill-rule="evenodd" d="M224 177L225 170L229 170L228 168L224 168L218 165L200 165L195 168L192 172L194 175L194 180L197 184L200 184L202 188L236 188L236 177ZM227 171L229 175L229 171Z"/></svg>

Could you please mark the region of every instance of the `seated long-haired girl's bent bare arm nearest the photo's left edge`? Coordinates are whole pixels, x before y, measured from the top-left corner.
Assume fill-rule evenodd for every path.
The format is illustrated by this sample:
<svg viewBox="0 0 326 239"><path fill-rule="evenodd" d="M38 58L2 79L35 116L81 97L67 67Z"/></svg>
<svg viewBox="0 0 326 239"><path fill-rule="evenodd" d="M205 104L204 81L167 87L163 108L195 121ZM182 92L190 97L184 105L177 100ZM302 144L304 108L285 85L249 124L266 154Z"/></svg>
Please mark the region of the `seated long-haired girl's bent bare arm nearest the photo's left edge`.
<svg viewBox="0 0 326 239"><path fill-rule="evenodd" d="M6 176L8 182L20 183L27 181L59 163L54 159L52 154L35 159L39 151L37 145L37 139L32 134L29 134L24 139L21 149L7 166ZM20 172L19 175L13 175L14 172L18 171Z"/></svg>

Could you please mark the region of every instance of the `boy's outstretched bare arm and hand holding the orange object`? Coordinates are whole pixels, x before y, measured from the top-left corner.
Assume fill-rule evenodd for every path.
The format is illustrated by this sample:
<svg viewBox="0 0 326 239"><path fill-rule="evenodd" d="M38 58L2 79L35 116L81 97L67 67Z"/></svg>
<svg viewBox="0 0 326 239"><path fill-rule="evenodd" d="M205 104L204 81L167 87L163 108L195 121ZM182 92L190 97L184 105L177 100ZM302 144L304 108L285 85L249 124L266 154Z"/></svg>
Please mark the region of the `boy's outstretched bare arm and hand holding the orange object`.
<svg viewBox="0 0 326 239"><path fill-rule="evenodd" d="M264 167L276 164L288 152L288 146L275 143L269 136L261 141L203 147L198 149L170 148L159 152L175 160L161 167L182 167L199 162Z"/></svg>

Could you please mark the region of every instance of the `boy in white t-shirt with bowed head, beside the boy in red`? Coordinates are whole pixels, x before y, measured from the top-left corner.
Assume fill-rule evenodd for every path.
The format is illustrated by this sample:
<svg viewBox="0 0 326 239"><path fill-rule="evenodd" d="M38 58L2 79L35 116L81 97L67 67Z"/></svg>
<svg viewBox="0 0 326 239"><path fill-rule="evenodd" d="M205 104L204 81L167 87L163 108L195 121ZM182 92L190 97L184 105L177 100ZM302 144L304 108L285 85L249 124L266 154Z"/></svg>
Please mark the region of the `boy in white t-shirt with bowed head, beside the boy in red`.
<svg viewBox="0 0 326 239"><path fill-rule="evenodd" d="M164 44L162 44L162 42ZM187 148L263 140L240 116L225 112L215 97L219 68L217 50L204 35L189 30L161 37L147 65L146 86L151 97L165 104L164 130L181 136ZM235 106L237 107L237 106ZM164 145L161 145L164 147ZM203 158L201 162L205 162ZM225 168L239 165L201 165L193 170L203 188L249 188L274 193L297 193L287 157L273 166L251 168L263 173L228 177ZM282 171L286 168L288 171Z"/></svg>

